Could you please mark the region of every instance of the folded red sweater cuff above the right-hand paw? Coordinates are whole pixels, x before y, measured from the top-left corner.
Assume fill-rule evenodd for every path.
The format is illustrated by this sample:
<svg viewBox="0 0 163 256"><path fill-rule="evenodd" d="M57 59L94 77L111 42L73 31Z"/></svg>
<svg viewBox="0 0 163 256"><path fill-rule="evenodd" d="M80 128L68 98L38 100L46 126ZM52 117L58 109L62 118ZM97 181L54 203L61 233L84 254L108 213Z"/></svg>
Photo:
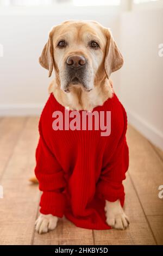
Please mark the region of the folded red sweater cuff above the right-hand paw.
<svg viewBox="0 0 163 256"><path fill-rule="evenodd" d="M121 205L124 203L124 187L123 184L117 184L117 182L107 182L101 180L97 184L96 193L99 198L115 202L120 199Z"/></svg>

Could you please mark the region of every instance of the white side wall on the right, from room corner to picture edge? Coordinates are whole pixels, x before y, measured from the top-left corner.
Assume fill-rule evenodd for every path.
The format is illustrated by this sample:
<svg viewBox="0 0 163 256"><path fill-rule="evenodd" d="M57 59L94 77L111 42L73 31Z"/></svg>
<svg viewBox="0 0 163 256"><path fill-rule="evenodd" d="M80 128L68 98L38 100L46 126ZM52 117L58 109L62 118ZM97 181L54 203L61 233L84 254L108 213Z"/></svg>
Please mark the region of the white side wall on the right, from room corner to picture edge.
<svg viewBox="0 0 163 256"><path fill-rule="evenodd" d="M163 149L163 9L121 16L120 97L137 130Z"/></svg>

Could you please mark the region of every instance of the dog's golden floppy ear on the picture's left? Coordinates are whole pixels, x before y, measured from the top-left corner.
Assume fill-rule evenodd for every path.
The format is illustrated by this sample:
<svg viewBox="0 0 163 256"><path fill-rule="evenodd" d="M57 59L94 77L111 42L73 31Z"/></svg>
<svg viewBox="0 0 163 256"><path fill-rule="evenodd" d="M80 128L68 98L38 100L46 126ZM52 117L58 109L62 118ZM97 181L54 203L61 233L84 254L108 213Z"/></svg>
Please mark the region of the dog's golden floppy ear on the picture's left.
<svg viewBox="0 0 163 256"><path fill-rule="evenodd" d="M43 68L49 70L49 77L52 75L54 66L54 56L53 56L53 32L54 29L49 33L49 38L46 45L43 47L41 56L39 58L39 63Z"/></svg>

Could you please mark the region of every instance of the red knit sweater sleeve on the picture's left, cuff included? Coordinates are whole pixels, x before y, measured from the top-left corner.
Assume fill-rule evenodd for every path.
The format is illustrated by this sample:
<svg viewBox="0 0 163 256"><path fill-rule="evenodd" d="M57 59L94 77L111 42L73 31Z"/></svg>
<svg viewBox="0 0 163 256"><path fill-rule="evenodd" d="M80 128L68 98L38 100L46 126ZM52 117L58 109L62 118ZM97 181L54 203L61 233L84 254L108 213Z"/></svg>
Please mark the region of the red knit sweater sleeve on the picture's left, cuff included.
<svg viewBox="0 0 163 256"><path fill-rule="evenodd" d="M41 129L39 143L36 148L35 175L39 180L39 189L43 192L40 199L40 212L62 217L65 208L66 186L64 172L52 151L46 144Z"/></svg>

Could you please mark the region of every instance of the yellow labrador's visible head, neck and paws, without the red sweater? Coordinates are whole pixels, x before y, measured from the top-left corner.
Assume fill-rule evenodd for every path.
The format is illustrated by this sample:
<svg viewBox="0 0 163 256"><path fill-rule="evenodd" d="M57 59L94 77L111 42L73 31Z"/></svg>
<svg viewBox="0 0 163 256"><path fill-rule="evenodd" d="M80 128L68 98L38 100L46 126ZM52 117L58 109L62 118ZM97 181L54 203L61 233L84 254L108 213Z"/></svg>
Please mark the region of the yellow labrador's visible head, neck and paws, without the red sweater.
<svg viewBox="0 0 163 256"><path fill-rule="evenodd" d="M80 20L54 26L39 61L49 77L55 71L49 93L62 106L77 111L102 106L113 93L111 72L123 65L109 29L95 21ZM106 200L105 215L108 225L116 229L125 229L129 224L119 200ZM57 221L56 216L40 214L36 230L46 233L56 227Z"/></svg>

